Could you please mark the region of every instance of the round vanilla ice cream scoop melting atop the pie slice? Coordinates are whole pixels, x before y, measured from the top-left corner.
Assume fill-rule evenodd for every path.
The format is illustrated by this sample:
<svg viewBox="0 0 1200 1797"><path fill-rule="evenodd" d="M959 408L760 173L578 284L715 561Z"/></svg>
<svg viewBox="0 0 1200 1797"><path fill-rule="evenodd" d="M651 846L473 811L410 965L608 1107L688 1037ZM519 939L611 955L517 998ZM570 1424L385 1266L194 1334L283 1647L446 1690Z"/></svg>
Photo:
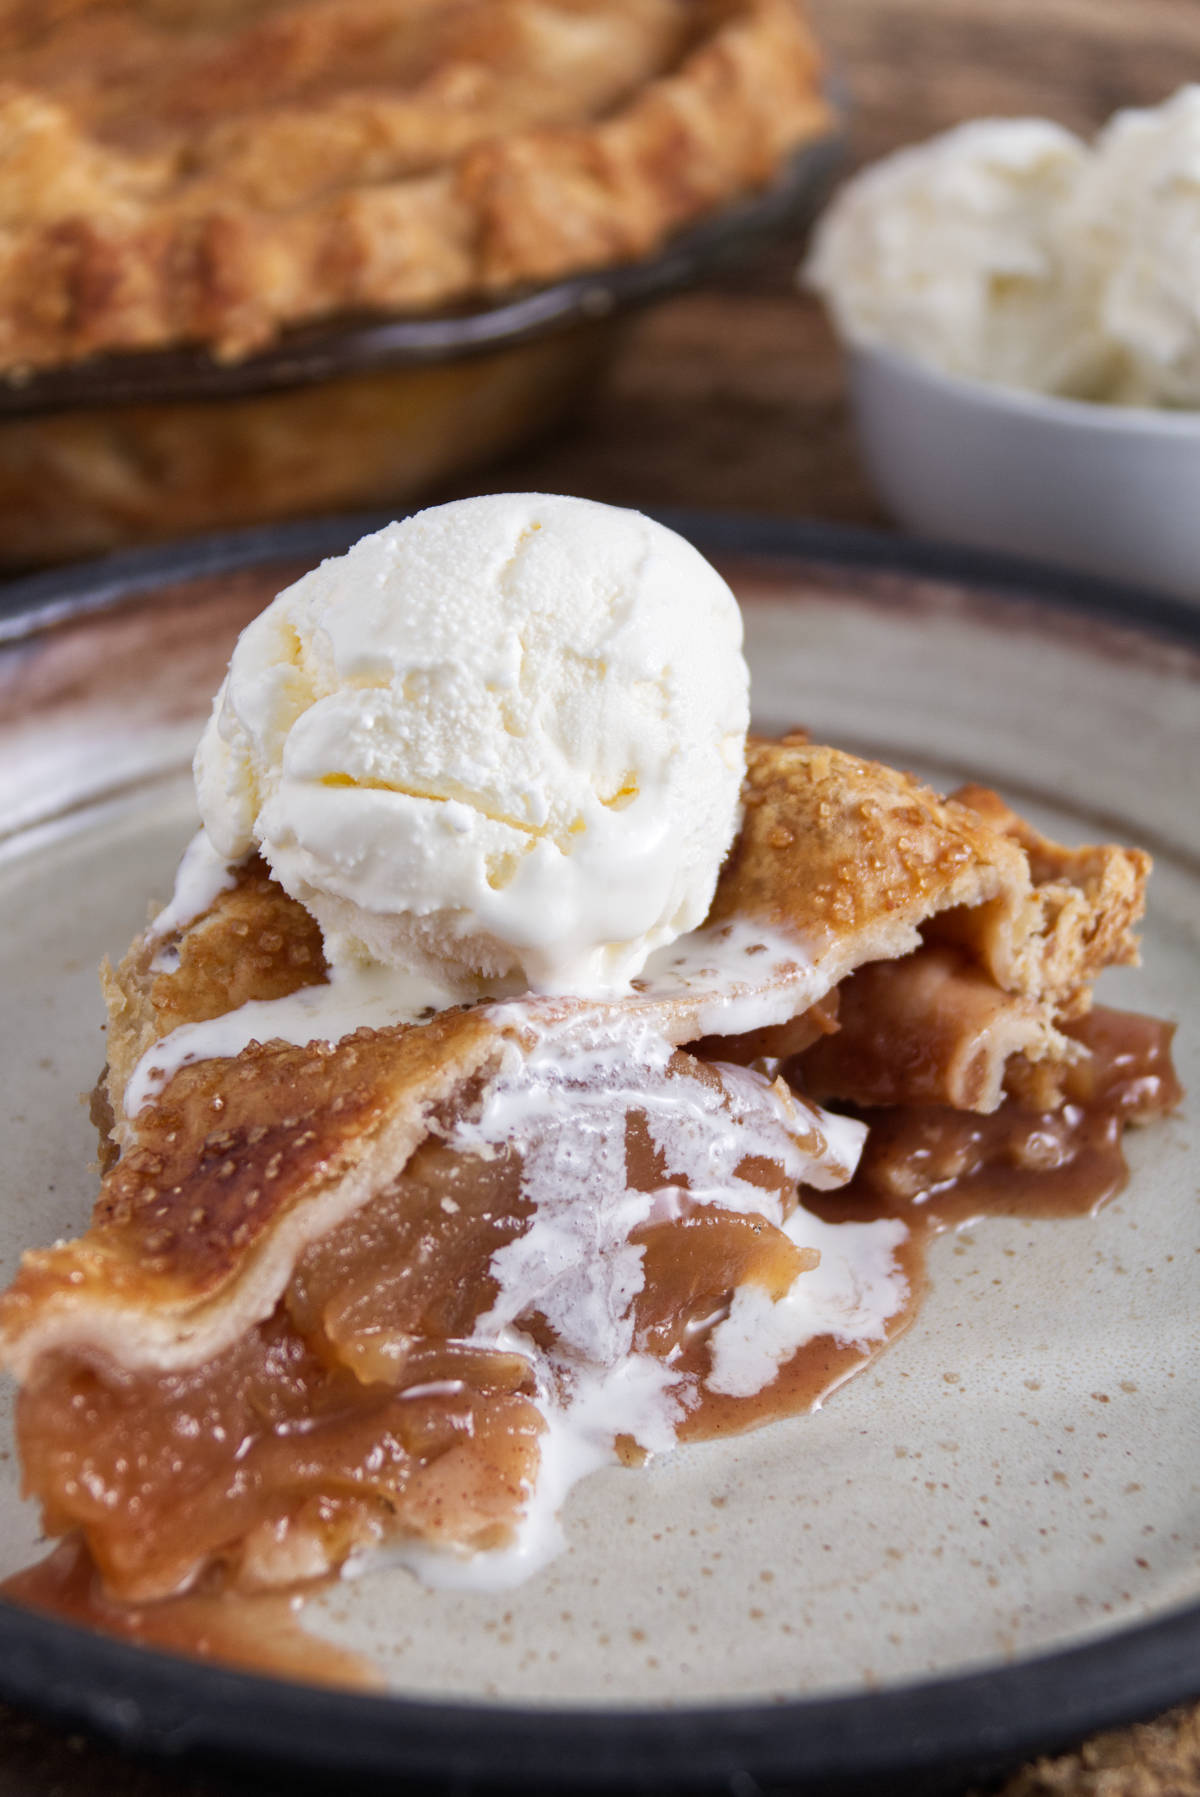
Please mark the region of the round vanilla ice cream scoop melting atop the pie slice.
<svg viewBox="0 0 1200 1797"><path fill-rule="evenodd" d="M243 633L196 753L334 963L602 994L702 922L738 821L742 618L638 512L499 494L322 562ZM501 987L498 987L501 983Z"/></svg>

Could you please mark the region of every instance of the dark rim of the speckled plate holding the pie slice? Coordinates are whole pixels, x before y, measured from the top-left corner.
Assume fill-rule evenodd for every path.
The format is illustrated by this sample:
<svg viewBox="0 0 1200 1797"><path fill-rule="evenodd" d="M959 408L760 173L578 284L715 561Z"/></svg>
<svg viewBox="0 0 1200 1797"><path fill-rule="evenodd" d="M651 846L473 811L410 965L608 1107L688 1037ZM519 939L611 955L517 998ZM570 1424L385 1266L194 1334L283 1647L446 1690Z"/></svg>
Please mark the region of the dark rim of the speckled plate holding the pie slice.
<svg viewBox="0 0 1200 1797"><path fill-rule="evenodd" d="M713 553L952 580L1200 647L1200 607L990 552L728 514L659 514ZM377 514L280 525L0 588L0 642L29 638L165 582L338 553ZM183 600L185 602L185 597ZM129 1646L0 1601L0 1698L119 1745L356 1790L934 1792L1164 1711L1200 1691L1200 1605L988 1671L778 1704L560 1709L365 1696Z"/></svg>

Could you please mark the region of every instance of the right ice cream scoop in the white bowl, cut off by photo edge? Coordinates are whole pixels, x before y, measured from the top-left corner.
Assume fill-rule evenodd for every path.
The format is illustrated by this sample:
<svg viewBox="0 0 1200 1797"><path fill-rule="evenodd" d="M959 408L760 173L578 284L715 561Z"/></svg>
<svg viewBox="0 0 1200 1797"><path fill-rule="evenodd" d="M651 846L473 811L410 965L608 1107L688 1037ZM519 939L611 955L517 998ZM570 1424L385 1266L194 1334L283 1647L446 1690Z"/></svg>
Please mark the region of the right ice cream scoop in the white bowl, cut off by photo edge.
<svg viewBox="0 0 1200 1797"><path fill-rule="evenodd" d="M1116 397L1200 406L1200 86L1121 111L1096 140L1071 208L1105 334L1123 356Z"/></svg>

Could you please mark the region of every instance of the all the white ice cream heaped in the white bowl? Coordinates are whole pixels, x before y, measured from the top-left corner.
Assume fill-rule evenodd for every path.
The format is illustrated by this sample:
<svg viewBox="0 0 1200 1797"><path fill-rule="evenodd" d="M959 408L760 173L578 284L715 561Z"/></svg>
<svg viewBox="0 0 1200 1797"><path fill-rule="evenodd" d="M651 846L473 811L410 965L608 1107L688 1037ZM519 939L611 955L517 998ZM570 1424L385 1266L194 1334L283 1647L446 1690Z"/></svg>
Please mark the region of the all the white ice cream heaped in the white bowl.
<svg viewBox="0 0 1200 1797"><path fill-rule="evenodd" d="M1200 404L1200 86L1087 144L979 119L864 169L803 280L851 343L1108 403Z"/></svg>

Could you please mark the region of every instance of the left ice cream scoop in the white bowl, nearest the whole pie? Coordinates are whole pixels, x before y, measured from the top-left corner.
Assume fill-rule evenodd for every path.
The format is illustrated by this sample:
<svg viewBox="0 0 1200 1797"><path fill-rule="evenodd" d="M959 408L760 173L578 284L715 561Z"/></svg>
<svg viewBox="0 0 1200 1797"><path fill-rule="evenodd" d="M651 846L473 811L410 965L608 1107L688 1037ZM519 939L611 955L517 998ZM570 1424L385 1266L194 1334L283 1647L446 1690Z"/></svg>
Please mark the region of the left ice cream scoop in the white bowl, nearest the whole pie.
<svg viewBox="0 0 1200 1797"><path fill-rule="evenodd" d="M1042 119L979 119L902 149L843 187L803 279L850 341L983 381L1092 390L1107 345L1089 271L1062 241L1087 156Z"/></svg>

